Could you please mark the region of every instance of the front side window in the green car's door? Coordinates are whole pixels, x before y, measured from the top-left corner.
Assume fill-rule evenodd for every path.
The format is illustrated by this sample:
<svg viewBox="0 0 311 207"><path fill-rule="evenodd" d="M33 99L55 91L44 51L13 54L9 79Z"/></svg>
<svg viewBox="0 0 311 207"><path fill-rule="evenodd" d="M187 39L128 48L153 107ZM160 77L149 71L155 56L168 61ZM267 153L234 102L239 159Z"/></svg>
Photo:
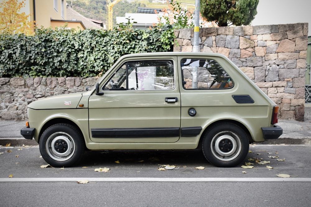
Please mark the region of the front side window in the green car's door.
<svg viewBox="0 0 311 207"><path fill-rule="evenodd" d="M124 63L105 84L104 90L165 90L175 87L170 60L141 60Z"/></svg>

